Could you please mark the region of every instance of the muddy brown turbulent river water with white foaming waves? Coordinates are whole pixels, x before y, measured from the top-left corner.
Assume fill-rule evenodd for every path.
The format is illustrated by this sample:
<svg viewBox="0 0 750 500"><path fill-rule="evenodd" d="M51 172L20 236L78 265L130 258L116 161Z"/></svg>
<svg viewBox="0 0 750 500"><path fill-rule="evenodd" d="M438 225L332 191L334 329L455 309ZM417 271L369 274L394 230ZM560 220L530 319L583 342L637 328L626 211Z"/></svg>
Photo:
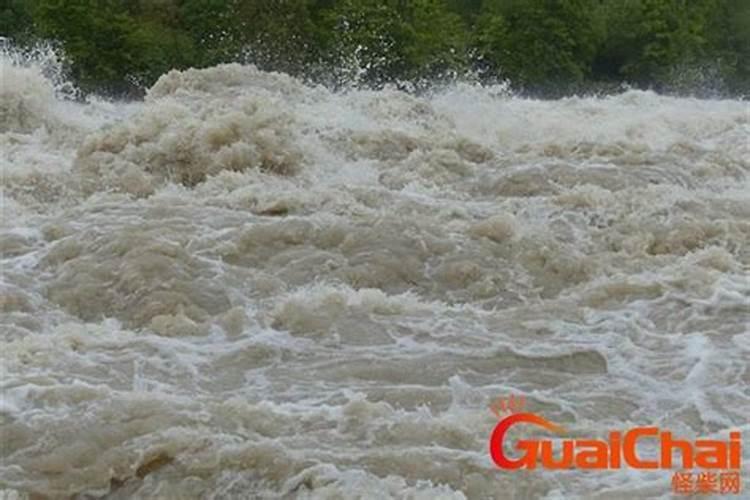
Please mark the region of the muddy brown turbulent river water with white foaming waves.
<svg viewBox="0 0 750 500"><path fill-rule="evenodd" d="M0 67L3 498L671 494L498 469L509 394L750 436L748 102L42 66Z"/></svg>

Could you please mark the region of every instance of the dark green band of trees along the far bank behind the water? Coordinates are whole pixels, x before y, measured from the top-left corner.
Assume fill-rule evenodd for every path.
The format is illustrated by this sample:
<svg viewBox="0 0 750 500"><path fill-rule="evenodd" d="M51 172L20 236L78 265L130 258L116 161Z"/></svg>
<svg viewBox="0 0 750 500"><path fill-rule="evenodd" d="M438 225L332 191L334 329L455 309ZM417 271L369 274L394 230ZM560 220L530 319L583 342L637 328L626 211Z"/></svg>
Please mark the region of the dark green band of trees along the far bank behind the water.
<svg viewBox="0 0 750 500"><path fill-rule="evenodd" d="M748 0L0 0L0 36L61 45L111 95L232 61L333 86L750 94Z"/></svg>

